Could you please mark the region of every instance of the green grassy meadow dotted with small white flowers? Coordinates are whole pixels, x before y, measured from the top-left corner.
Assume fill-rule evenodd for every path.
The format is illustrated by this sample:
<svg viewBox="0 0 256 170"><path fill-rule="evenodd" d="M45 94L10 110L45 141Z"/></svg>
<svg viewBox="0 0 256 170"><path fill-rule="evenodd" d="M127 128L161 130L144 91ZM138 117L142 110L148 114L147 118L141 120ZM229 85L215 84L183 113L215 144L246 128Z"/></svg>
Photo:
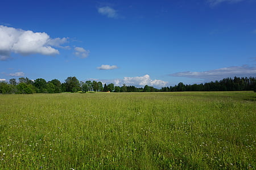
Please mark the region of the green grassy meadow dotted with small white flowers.
<svg viewBox="0 0 256 170"><path fill-rule="evenodd" d="M255 98L0 95L0 169L255 169Z"/></svg>

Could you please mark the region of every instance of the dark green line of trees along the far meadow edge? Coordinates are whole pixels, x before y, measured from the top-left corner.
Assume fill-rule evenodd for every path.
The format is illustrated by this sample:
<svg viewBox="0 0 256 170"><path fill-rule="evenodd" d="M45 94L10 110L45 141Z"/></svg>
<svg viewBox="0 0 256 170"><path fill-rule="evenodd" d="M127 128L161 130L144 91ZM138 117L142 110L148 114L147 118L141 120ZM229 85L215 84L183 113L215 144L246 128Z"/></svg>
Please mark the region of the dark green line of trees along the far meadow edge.
<svg viewBox="0 0 256 170"><path fill-rule="evenodd" d="M183 84L179 83L175 86L162 87L161 89L152 86L144 86L144 88L135 86L122 87L114 86L113 83L103 84L96 81L81 82L75 76L69 76L64 83L60 80L53 79L46 81L38 78L30 80L28 78L10 79L9 83L0 82L0 94L34 94L34 93L61 93L61 92L88 92L88 91L104 91L104 92L174 92L174 91L256 91L256 79L250 78L225 78L220 81L201 83L201 84Z"/></svg>

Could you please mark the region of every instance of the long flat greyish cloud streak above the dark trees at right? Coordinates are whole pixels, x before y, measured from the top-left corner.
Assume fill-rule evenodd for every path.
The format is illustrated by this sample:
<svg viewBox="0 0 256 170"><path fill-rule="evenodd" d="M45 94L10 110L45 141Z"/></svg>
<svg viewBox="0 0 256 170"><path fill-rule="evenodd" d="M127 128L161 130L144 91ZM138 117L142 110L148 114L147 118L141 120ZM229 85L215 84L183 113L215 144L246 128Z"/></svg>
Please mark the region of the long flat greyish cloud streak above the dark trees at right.
<svg viewBox="0 0 256 170"><path fill-rule="evenodd" d="M170 74L170 76L181 76L187 78L197 78L197 79L205 79L205 80L220 80L227 77L234 76L256 76L256 67L250 67L247 65L244 66L233 66L233 67L225 67L221 69L209 70L209 71L184 71L178 72L174 74Z"/></svg>

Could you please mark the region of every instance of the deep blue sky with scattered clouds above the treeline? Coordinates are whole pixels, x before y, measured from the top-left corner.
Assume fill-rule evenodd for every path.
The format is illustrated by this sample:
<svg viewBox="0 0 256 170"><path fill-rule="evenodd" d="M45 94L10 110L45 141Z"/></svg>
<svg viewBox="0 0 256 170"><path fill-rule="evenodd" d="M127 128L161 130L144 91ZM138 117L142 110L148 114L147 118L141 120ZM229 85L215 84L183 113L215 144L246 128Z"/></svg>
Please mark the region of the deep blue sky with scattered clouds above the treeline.
<svg viewBox="0 0 256 170"><path fill-rule="evenodd" d="M255 9L255 0L2 0L0 80L161 88L255 77Z"/></svg>

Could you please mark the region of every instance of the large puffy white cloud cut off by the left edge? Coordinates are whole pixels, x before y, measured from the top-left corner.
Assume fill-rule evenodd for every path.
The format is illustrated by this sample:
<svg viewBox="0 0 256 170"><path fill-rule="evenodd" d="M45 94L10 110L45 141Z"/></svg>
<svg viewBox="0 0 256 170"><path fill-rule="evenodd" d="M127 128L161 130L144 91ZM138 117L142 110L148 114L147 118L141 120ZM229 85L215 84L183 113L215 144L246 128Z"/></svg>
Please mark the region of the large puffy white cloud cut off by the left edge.
<svg viewBox="0 0 256 170"><path fill-rule="evenodd" d="M59 50L52 46L60 47L67 42L66 38L51 39L45 32L24 31L0 25L0 60L11 57L11 53L18 53L23 56L30 54L42 54L55 56Z"/></svg>

